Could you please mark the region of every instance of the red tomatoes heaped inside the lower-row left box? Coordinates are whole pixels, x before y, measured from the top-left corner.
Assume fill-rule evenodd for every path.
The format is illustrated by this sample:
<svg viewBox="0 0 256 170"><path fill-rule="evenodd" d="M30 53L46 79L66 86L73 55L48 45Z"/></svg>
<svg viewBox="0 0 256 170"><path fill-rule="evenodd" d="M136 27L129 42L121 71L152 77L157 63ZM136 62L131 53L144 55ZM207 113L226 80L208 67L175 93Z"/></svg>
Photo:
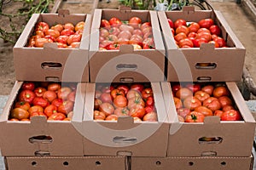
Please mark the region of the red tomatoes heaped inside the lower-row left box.
<svg viewBox="0 0 256 170"><path fill-rule="evenodd" d="M24 82L15 100L9 121L30 121L32 116L70 121L73 116L76 83Z"/></svg>

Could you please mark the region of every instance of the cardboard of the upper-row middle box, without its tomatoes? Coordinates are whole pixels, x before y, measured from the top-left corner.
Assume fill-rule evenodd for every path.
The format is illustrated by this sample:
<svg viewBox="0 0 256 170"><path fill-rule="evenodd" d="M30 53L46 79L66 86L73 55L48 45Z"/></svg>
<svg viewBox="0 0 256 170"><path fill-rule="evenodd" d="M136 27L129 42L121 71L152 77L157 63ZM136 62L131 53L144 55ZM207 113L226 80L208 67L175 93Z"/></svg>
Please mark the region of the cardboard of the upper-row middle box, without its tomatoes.
<svg viewBox="0 0 256 170"><path fill-rule="evenodd" d="M155 49L137 49L122 45L119 50L99 50L101 20L118 17L129 20L133 16L142 23L150 21ZM163 82L165 79L165 47L155 11L96 9L90 35L90 82ZM111 73L111 74L109 74Z"/></svg>

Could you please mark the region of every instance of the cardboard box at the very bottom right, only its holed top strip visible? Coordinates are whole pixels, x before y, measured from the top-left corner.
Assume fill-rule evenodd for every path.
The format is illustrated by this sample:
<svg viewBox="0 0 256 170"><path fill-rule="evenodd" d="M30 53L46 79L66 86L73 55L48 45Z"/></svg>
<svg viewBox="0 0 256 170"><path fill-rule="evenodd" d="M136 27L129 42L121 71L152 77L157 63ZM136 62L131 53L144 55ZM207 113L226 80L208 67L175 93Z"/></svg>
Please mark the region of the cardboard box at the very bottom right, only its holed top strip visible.
<svg viewBox="0 0 256 170"><path fill-rule="evenodd" d="M247 157L131 157L131 169L140 170L252 170L253 156Z"/></svg>

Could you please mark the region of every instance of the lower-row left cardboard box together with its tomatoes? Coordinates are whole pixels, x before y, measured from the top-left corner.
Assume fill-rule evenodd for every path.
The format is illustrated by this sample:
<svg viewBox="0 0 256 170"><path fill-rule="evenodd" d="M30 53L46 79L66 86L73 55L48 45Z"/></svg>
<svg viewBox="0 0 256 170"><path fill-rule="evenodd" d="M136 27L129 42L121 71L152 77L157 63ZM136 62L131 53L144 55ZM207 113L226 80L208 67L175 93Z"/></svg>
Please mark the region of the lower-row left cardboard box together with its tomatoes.
<svg viewBox="0 0 256 170"><path fill-rule="evenodd" d="M84 156L79 128L85 88L77 82L16 81L0 115L2 156Z"/></svg>

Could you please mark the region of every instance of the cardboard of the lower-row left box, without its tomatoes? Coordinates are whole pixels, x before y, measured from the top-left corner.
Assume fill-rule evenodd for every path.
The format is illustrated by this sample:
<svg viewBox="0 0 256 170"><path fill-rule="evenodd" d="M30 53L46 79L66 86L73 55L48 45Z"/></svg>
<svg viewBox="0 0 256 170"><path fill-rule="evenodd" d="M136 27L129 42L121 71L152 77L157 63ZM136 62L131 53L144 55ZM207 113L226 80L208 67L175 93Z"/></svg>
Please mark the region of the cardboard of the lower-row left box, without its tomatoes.
<svg viewBox="0 0 256 170"><path fill-rule="evenodd" d="M84 156L83 136L79 133L84 109L85 84L78 83L72 121L47 121L33 116L30 122L9 121L16 96L23 82L15 82L0 116L2 156Z"/></svg>

